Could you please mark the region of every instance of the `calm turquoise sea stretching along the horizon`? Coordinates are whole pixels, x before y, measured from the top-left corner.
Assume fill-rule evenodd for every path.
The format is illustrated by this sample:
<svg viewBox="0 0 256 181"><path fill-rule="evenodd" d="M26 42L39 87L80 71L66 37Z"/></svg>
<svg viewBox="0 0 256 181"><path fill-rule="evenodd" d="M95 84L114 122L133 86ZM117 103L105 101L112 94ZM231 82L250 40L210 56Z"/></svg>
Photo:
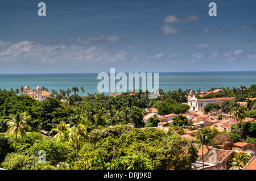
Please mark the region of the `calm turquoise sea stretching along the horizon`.
<svg viewBox="0 0 256 181"><path fill-rule="evenodd" d="M154 73L152 73L154 75ZM93 94L97 90L98 73L74 73L74 74L0 74L0 88L10 90L11 88L20 89L21 86L46 87L51 90L59 91L72 89L77 86L84 87L87 92ZM128 77L128 76L127 76ZM115 80L117 83L119 80ZM162 72L159 73L159 88L164 92L169 90L193 89L195 91L207 91L212 87L250 87L256 84L256 71L209 71L209 72ZM128 87L128 86L127 86ZM110 88L109 88L110 90ZM114 92L105 92L105 95ZM118 93L118 92L115 92ZM81 91L79 92L81 95Z"/></svg>

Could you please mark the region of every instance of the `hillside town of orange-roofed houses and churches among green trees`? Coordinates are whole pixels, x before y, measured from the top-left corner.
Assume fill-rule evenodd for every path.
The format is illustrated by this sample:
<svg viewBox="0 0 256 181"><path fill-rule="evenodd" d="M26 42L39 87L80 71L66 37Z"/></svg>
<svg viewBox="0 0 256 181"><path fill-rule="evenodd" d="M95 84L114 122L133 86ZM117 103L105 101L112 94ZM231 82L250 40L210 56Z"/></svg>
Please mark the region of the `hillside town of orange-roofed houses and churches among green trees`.
<svg viewBox="0 0 256 181"><path fill-rule="evenodd" d="M64 94L65 91L62 90L60 92L52 90L50 93L39 86L35 87L35 90L31 90L28 86L22 87L20 95L15 95L14 91L0 91L2 98L0 99L0 130L2 132L0 143L7 140L11 143L13 140L13 143L9 146L7 144L6 149L1 152L6 157L1 161L2 169L20 169L18 166L10 166L9 162L14 155L20 157L17 159L25 158L24 151L26 153L31 151L35 154L35 150L49 149L49 145L51 149L63 149L55 144L68 147L65 151L63 150L63 157L58 158L57 162L49 160L49 163L44 165L37 163L35 167L38 169L71 169L73 165L72 169L95 169L97 163L93 165L93 162L86 162L88 165L84 165L83 155L91 155L88 158L90 161L101 159L102 162L112 165L113 154L106 153L114 149L122 155L118 158L120 165L115 169L125 169L122 165L125 164L122 159L127 157L123 153L124 150L131 154L129 159L139 157L145 161L145 163L139 163L141 169L256 169L254 141L256 117L251 116L251 113L256 111L256 100L252 97L245 98L245 95L250 95L252 90L256 90L255 85L243 91L242 99L229 89L199 93L193 90L184 92L159 90L159 98L151 100L147 99L148 94L143 92L110 95L88 93L87 96L80 96L77 94L79 89L73 88L75 93L73 95ZM233 91L241 91L241 89ZM228 95L227 92L230 92L231 96L215 97L216 95ZM208 98L209 96L214 98ZM236 109L241 111L241 115ZM18 120L15 118L17 116L20 117L20 121L26 120L26 123L20 122L18 125L16 123ZM11 125L16 125L15 127L19 127L19 130ZM77 140L74 133L81 134L82 140ZM136 137L137 134L140 136ZM122 142L123 138L131 139L129 144ZM201 138L203 140L200 141ZM35 142L29 141L30 139ZM163 140L169 142L168 139L183 145L185 153L194 151L195 157L186 154L183 159L191 161L182 167L178 166L178 160L174 162L171 159L168 160L169 156L165 154L171 148L160 144ZM121 144L121 141L122 146L115 149L118 146L115 144L114 146L112 141L117 145L118 142ZM44 142L46 145L43 145ZM24 147L23 144L27 146ZM104 148L102 144L108 146ZM147 148L140 144L157 146L156 148L147 146ZM92 145L97 146L90 147ZM131 145L138 146L138 148L133 148ZM94 150L94 148L97 149ZM152 153L149 148L162 150L163 152L157 153L158 157L166 157L168 161L159 160L158 164L154 165L158 157L150 158L149 155ZM139 154L133 152L133 149ZM180 157L184 154L184 150L177 151L175 155ZM100 156L101 154L104 156ZM30 158L28 155L26 157ZM47 157L51 156L47 154ZM71 157L72 161L68 161L68 157ZM236 161L237 157L244 157L243 160L246 162ZM60 166L60 163L65 163L66 166ZM77 166L78 163L82 165ZM32 167L24 165L22 169L32 169ZM110 169L110 167L101 167L101 169Z"/></svg>

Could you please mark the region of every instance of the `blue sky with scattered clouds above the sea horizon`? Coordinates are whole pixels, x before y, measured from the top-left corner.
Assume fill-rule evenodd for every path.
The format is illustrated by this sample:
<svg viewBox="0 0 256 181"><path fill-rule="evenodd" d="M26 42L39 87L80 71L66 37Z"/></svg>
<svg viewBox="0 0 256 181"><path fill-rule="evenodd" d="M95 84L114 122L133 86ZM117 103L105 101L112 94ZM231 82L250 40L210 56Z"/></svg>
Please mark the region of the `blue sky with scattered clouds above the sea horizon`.
<svg viewBox="0 0 256 181"><path fill-rule="evenodd" d="M255 0L1 0L0 74L256 70L255 10Z"/></svg>

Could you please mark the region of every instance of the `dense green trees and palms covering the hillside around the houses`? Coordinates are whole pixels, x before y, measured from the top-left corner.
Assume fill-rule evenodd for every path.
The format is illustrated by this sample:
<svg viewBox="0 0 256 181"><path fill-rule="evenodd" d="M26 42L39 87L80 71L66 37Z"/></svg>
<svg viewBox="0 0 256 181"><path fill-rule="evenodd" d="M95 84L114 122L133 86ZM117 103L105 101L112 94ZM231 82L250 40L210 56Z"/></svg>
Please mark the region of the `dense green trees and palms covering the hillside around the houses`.
<svg viewBox="0 0 256 181"><path fill-rule="evenodd" d="M46 89L46 88L44 88ZM229 89L209 94L203 98L235 96L233 102L225 101L221 107L210 104L206 112L230 112L238 101L246 101L252 111L243 109L244 117L256 117L256 86ZM214 89L213 89L214 90ZM0 91L0 167L5 169L192 169L197 159L197 148L181 138L183 126L194 130L187 117L190 90L163 92L148 99L148 92L124 92L116 96L87 94L84 88L73 87L59 92L56 98L39 102L15 91ZM74 92L75 94L71 95ZM80 93L80 94L79 94ZM67 102L61 103L61 99ZM169 131L155 128L158 117L143 121L146 108L154 107L160 115L175 113ZM15 118L16 116L16 118ZM18 119L18 121L17 121ZM135 128L127 125L133 123ZM144 127L144 128L143 128ZM17 131L15 131L15 128ZM27 129L30 128L30 129ZM143 128L143 129L141 129ZM230 141L255 144L255 121L233 125L229 133L220 133L209 127L199 131L208 135L212 146ZM44 136L42 135L45 134ZM222 135L223 134L223 135ZM229 149L224 145L223 149ZM40 151L45 151L46 161ZM15 153L14 153L15 152ZM35 160L35 162L34 162Z"/></svg>

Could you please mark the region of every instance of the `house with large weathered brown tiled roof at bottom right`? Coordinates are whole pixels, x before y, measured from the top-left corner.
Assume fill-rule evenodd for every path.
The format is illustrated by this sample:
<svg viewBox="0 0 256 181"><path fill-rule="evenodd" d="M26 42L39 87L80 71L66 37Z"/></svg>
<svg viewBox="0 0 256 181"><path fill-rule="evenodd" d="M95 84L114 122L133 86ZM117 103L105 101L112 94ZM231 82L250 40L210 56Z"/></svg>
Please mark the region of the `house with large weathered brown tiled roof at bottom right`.
<svg viewBox="0 0 256 181"><path fill-rule="evenodd" d="M194 144L193 144L194 145ZM227 170L227 163L232 159L233 150L217 149L212 146L203 145L203 158L201 157L202 150L199 148L197 155L199 158L195 163L197 170Z"/></svg>

